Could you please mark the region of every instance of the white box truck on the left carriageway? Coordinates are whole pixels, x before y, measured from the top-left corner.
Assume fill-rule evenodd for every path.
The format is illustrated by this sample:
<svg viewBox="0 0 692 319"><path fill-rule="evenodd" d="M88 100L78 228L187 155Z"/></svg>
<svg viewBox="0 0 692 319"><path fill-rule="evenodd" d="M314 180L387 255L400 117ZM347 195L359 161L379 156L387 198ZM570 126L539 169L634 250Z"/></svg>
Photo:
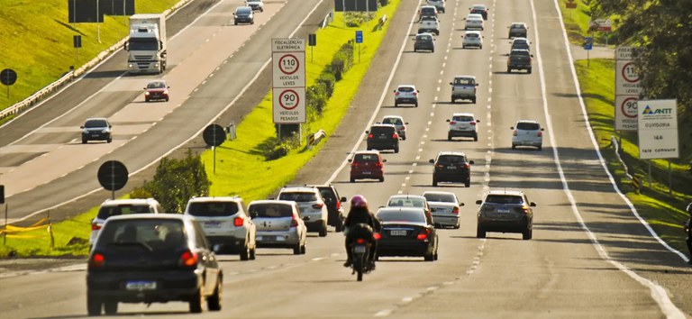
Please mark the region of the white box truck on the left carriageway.
<svg viewBox="0 0 692 319"><path fill-rule="evenodd" d="M127 71L162 73L166 69L166 17L163 14L132 14L130 39L125 42Z"/></svg>

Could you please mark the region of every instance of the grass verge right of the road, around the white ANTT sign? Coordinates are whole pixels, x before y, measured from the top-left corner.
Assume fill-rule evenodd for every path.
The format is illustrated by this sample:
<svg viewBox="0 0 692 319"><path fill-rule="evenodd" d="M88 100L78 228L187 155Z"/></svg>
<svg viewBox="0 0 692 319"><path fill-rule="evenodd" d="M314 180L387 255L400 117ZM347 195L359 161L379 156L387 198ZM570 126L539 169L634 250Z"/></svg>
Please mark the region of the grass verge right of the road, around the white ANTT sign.
<svg viewBox="0 0 692 319"><path fill-rule="evenodd" d="M688 214L683 209L687 203L692 201L689 165L675 164L672 166L673 176L681 180L678 180L676 186L673 187L672 195L669 195L667 173L663 172L663 170L668 169L667 161L652 160L653 170L658 171L657 177L659 178L653 180L652 187L648 187L645 163L638 160L639 149L636 132L625 132L622 135L623 157L628 165L633 166L637 176L644 180L644 189L642 194L639 194L624 175L624 168L615 158L615 151L610 144L610 139L615 133L613 127L615 121L613 110L615 60L591 59L589 68L587 68L587 61L580 60L576 63L576 67L579 85L587 105L589 121L596 134L596 141L598 141L599 148L608 162L608 168L615 175L618 186L630 198L639 214L651 224L651 227L663 240L679 251L687 251L682 223L688 218ZM680 135L680 139L681 145L689 142L685 136ZM665 178L661 179L660 177Z"/></svg>

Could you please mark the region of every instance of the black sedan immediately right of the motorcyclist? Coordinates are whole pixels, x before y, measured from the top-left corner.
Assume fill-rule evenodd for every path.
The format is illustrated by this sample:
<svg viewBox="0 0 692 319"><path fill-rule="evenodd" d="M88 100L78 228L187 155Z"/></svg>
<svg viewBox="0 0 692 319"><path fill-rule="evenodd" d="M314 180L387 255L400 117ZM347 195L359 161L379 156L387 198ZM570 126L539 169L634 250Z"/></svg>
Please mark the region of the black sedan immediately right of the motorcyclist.
<svg viewBox="0 0 692 319"><path fill-rule="evenodd" d="M383 207L375 216L382 224L378 238L377 257L423 257L437 260L437 233L423 208Z"/></svg>

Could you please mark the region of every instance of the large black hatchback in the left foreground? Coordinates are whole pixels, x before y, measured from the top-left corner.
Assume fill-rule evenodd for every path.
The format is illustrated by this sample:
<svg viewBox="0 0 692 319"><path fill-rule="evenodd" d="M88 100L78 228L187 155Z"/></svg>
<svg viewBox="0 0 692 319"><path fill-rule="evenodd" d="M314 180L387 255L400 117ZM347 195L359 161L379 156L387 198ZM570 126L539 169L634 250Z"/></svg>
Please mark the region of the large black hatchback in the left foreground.
<svg viewBox="0 0 692 319"><path fill-rule="evenodd" d="M182 214L109 217L87 265L87 312L115 314L118 303L189 303L221 310L223 274L205 232Z"/></svg>

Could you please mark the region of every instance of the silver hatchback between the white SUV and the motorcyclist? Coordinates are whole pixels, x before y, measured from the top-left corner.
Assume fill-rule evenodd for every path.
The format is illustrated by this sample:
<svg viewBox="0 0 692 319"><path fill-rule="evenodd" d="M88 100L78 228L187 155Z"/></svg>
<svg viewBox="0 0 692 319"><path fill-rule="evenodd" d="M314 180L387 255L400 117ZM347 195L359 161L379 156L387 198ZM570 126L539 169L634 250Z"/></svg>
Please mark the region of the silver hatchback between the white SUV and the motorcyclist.
<svg viewBox="0 0 692 319"><path fill-rule="evenodd" d="M307 228L296 202L256 200L248 205L252 222L257 227L257 247L288 248L294 255L305 254Z"/></svg>

